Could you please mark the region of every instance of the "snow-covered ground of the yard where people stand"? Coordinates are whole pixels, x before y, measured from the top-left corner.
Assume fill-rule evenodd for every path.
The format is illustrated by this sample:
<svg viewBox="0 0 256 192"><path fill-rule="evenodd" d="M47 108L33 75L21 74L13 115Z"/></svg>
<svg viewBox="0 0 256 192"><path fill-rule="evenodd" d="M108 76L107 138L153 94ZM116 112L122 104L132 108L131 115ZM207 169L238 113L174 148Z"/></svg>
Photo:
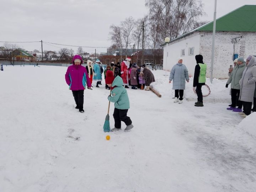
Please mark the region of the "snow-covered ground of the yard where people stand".
<svg viewBox="0 0 256 192"><path fill-rule="evenodd" d="M153 71L162 97L127 89L134 128L105 133L104 81L85 90L79 113L66 69L0 71L0 192L255 191L256 113L243 120L226 110L226 80L207 79L211 93L204 107L194 107L193 79L178 104L169 72ZM111 128L113 109L111 103Z"/></svg>

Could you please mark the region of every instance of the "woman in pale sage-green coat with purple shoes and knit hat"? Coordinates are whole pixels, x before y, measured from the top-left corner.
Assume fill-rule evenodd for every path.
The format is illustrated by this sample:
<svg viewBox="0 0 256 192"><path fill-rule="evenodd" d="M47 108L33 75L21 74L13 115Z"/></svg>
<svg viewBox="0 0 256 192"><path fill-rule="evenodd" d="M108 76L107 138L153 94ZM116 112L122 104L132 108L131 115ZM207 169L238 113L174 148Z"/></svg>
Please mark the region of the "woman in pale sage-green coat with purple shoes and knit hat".
<svg viewBox="0 0 256 192"><path fill-rule="evenodd" d="M227 108L228 110L233 110L234 112L242 112L242 102L237 100L237 96L240 96L240 84L239 81L242 77L242 74L245 69L245 61L244 58L239 57L237 60L237 65L234 67L233 71L231 72L230 78L226 83L226 88L231 83L231 106ZM236 108L236 104L238 108Z"/></svg>

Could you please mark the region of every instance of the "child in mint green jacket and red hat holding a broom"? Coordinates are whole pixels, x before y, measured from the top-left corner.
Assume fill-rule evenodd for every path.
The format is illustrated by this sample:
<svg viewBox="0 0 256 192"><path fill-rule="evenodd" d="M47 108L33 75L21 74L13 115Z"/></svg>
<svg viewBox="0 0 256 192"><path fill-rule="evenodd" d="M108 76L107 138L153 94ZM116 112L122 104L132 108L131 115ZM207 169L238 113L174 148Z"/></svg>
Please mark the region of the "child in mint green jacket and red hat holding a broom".
<svg viewBox="0 0 256 192"><path fill-rule="evenodd" d="M127 116L128 109L130 108L129 97L126 89L123 87L123 80L117 76L114 78L114 74L111 70L106 72L105 83L111 89L111 95L108 96L108 101L114 103L114 128L111 131L121 130L121 121L126 124L124 131L129 131L133 128L132 120Z"/></svg>

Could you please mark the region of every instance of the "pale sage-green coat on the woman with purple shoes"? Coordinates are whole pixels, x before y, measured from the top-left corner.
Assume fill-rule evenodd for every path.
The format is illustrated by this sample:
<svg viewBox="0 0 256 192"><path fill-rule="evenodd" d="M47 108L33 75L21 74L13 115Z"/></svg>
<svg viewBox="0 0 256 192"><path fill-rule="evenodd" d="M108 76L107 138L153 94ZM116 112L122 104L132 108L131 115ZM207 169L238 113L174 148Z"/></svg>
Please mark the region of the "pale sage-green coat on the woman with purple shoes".
<svg viewBox="0 0 256 192"><path fill-rule="evenodd" d="M240 84L239 81L242 77L242 73L244 72L245 69L245 63L243 64L237 64L233 71L231 72L230 78L228 79L226 84L231 83L231 89L240 89Z"/></svg>

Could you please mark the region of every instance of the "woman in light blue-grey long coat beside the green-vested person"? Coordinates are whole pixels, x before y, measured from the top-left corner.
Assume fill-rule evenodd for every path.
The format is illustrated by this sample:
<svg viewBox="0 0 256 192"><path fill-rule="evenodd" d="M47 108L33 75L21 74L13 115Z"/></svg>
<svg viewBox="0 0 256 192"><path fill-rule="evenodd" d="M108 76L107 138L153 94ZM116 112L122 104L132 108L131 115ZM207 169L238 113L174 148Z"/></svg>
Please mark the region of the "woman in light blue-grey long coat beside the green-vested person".
<svg viewBox="0 0 256 192"><path fill-rule="evenodd" d="M182 59L178 59L178 63L172 67L169 77L169 83L173 80L172 89L175 90L174 103L182 103L186 81L189 82L187 67L182 64ZM186 81L185 81L186 80Z"/></svg>

